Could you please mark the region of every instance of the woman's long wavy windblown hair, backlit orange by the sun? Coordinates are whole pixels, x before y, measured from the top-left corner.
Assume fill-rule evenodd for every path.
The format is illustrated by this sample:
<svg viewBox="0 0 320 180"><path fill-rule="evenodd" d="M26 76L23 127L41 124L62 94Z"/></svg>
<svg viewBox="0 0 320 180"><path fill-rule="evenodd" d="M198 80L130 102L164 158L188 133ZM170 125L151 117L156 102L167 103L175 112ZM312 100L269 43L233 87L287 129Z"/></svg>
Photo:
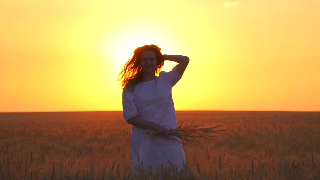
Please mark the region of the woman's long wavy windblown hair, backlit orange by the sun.
<svg viewBox="0 0 320 180"><path fill-rule="evenodd" d="M122 76L120 78L123 79L122 81L122 88L131 88L130 92L134 91L134 86L139 83L139 81L143 78L143 71L140 65L141 61L141 53L145 51L152 51L156 55L157 66L155 73L158 74L160 69L164 65L164 61L162 59L161 48L157 45L144 45L141 47L136 48L133 51L133 55L129 61L127 61L124 66L122 67L122 71L119 73ZM119 78L118 78L119 80Z"/></svg>

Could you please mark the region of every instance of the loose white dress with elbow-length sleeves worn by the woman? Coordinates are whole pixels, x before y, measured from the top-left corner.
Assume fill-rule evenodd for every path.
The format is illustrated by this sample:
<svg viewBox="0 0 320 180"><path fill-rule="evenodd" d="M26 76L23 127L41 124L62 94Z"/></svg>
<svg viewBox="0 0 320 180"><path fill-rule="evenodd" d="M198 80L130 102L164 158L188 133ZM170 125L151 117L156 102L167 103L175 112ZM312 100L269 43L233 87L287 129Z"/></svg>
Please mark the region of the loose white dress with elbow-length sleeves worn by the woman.
<svg viewBox="0 0 320 180"><path fill-rule="evenodd" d="M132 116L152 121L170 128L177 127L176 113L172 100L171 88L181 79L177 66L171 71L161 71L154 80L139 83L133 92L123 89L122 104L123 116L128 121ZM130 88L132 90L132 88ZM141 161L143 166L152 172L157 167L170 167L170 162L180 171L186 162L185 153L181 141L176 136L166 137L144 135L140 132L150 131L132 126L131 132L131 170L137 173L137 167ZM139 154L139 156L138 156Z"/></svg>

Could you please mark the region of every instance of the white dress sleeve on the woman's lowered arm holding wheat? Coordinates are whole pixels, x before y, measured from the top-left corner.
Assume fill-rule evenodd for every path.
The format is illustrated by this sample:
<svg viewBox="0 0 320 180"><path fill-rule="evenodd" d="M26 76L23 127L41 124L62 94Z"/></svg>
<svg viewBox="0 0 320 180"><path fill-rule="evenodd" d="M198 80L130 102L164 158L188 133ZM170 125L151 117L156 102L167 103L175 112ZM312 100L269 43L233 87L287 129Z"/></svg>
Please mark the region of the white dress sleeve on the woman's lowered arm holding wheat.
<svg viewBox="0 0 320 180"><path fill-rule="evenodd" d="M122 91L122 112L126 122L128 122L132 116L138 115L133 92L128 91L128 88L123 88Z"/></svg>

